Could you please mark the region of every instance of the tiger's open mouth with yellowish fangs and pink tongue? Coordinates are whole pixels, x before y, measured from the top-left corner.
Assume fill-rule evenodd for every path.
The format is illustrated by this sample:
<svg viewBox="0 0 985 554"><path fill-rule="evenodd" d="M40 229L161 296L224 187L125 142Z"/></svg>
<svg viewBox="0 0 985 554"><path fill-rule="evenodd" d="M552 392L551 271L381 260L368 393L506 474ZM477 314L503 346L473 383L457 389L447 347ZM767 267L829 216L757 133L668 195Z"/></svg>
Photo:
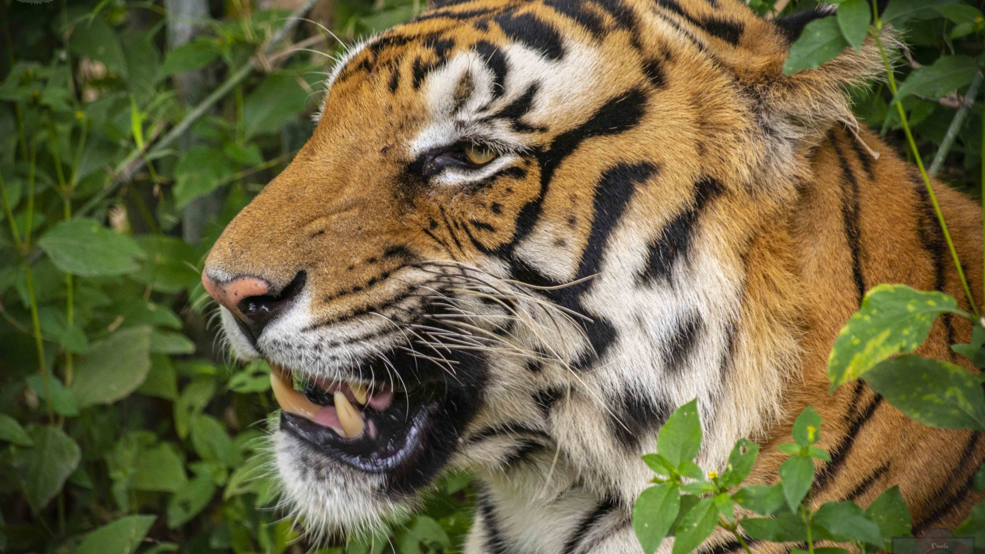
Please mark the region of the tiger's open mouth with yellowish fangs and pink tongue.
<svg viewBox="0 0 985 554"><path fill-rule="evenodd" d="M283 429L363 471L392 471L418 457L439 407L427 386L398 392L388 384L301 380L273 364L270 381Z"/></svg>

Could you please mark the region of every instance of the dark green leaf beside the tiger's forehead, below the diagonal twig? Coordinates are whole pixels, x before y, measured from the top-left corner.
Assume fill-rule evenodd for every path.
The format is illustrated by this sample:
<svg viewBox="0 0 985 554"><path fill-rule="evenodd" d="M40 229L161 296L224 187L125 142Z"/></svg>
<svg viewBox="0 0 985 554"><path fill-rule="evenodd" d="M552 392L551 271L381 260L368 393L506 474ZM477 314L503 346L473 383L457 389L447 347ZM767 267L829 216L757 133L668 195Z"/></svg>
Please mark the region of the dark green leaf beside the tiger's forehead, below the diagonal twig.
<svg viewBox="0 0 985 554"><path fill-rule="evenodd" d="M307 107L308 94L288 75L269 75L243 103L246 138L279 132Z"/></svg>

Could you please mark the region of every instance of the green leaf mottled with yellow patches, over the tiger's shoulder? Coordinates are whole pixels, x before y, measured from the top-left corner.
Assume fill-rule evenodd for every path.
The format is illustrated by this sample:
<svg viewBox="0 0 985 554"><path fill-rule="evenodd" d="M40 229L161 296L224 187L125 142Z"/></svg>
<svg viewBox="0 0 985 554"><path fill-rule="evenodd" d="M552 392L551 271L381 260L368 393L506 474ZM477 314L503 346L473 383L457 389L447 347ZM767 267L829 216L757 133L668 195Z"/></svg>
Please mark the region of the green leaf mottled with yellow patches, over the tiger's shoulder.
<svg viewBox="0 0 985 554"><path fill-rule="evenodd" d="M948 312L967 315L942 293L906 285L875 287L834 340L827 359L831 388L862 377L890 356L916 350L927 340L938 315Z"/></svg>

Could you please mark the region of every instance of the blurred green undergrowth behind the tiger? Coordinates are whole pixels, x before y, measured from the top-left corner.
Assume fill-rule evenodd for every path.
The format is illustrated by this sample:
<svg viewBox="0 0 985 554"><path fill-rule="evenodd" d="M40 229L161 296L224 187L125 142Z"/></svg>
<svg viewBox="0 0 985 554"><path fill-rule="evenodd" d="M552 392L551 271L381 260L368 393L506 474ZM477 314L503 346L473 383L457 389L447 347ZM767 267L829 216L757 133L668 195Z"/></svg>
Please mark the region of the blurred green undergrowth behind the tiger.
<svg viewBox="0 0 985 554"><path fill-rule="evenodd" d="M928 165L977 196L981 6L915 1L899 78L963 73L904 105ZM0 550L307 552L267 476L270 370L230 360L199 273L310 136L343 43L423 0L0 4ZM885 87L853 95L903 153ZM319 552L459 551L473 491L446 475L420 514Z"/></svg>

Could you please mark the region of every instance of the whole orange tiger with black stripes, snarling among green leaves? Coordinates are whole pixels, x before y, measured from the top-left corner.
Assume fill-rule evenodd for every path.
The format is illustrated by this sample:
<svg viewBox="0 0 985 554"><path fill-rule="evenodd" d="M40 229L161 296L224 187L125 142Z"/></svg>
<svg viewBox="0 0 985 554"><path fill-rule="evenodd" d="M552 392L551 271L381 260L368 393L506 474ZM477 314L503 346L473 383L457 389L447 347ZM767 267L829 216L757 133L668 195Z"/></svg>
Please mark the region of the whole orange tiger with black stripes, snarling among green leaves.
<svg viewBox="0 0 985 554"><path fill-rule="evenodd" d="M694 398L705 471L747 437L747 483L776 482L810 405L830 453L815 505L898 485L914 534L956 525L981 499L981 434L916 423L864 381L828 391L877 284L970 310L920 174L852 114L885 71L875 39L783 72L831 13L446 0L347 50L311 138L202 273L235 355L270 364L276 475L306 528L400 520L463 468L466 552L641 552L641 455ZM936 192L981 283L981 214ZM967 363L949 345L970 332L945 315L918 352Z"/></svg>

